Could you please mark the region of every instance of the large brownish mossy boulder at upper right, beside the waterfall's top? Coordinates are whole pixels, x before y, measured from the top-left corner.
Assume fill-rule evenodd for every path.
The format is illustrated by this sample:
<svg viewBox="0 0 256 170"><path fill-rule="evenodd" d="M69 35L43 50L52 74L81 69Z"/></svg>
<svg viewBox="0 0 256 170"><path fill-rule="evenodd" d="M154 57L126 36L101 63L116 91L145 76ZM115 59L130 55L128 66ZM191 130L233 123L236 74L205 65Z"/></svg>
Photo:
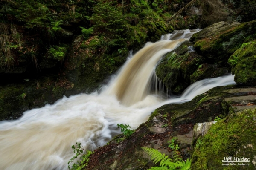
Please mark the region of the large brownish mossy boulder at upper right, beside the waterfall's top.
<svg viewBox="0 0 256 170"><path fill-rule="evenodd" d="M227 66L227 60L243 43L256 38L256 20L247 23L219 22L194 34L191 41L208 62Z"/></svg>

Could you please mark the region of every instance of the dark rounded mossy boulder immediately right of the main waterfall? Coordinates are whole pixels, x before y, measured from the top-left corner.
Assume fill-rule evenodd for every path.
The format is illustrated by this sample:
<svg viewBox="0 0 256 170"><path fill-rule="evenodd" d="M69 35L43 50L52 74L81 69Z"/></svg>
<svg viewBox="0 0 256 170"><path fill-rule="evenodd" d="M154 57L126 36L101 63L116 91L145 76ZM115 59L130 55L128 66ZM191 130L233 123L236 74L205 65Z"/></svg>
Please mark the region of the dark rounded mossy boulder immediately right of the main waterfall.
<svg viewBox="0 0 256 170"><path fill-rule="evenodd" d="M203 58L196 52L191 51L189 46L193 46L193 43L183 42L177 49L167 53L157 65L157 77L171 92L183 92L190 85L190 74L203 61Z"/></svg>

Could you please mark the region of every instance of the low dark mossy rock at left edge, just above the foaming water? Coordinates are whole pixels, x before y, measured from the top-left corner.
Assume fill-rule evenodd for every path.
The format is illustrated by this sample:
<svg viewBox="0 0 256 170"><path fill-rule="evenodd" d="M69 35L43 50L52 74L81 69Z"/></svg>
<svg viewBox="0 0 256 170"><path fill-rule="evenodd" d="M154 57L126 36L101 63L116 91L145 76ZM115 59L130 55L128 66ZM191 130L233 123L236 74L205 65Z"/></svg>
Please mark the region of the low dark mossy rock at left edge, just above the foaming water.
<svg viewBox="0 0 256 170"><path fill-rule="evenodd" d="M0 86L0 121L17 119L29 109L53 104L72 86L55 75Z"/></svg>

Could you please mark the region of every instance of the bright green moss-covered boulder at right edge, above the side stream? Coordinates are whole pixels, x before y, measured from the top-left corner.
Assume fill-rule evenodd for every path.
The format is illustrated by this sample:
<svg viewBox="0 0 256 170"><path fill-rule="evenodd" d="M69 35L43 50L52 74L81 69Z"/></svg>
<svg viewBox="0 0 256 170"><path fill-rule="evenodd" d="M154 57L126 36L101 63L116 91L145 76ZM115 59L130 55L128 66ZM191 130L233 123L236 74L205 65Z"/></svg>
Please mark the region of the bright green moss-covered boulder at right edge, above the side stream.
<svg viewBox="0 0 256 170"><path fill-rule="evenodd" d="M230 56L228 62L232 66L236 83L256 86L256 41L243 43L241 48Z"/></svg>

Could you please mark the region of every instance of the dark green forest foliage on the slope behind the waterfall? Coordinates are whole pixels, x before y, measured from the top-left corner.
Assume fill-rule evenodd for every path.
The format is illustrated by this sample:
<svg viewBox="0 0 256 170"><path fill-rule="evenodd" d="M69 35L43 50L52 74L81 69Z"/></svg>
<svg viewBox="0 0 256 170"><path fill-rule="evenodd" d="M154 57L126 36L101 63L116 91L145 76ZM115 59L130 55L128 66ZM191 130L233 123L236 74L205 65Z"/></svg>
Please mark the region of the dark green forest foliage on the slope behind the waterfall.
<svg viewBox="0 0 256 170"><path fill-rule="evenodd" d="M157 41L161 35L174 29L208 26L228 17L250 20L243 14L248 11L248 15L254 14L256 3L242 1L231 4L219 0L197 0L193 6L202 10L201 15L189 14L189 9L186 9L167 23L190 1L2 0L0 67L12 68L20 63L38 66L38 62L48 58L62 62L71 43L66 37L71 36L72 40L72 37L82 35L81 48L90 52L87 57L94 58L94 64L107 63L101 67L115 65L107 70L112 72L125 61L128 51L140 49L146 41ZM248 10L244 10L246 8Z"/></svg>

